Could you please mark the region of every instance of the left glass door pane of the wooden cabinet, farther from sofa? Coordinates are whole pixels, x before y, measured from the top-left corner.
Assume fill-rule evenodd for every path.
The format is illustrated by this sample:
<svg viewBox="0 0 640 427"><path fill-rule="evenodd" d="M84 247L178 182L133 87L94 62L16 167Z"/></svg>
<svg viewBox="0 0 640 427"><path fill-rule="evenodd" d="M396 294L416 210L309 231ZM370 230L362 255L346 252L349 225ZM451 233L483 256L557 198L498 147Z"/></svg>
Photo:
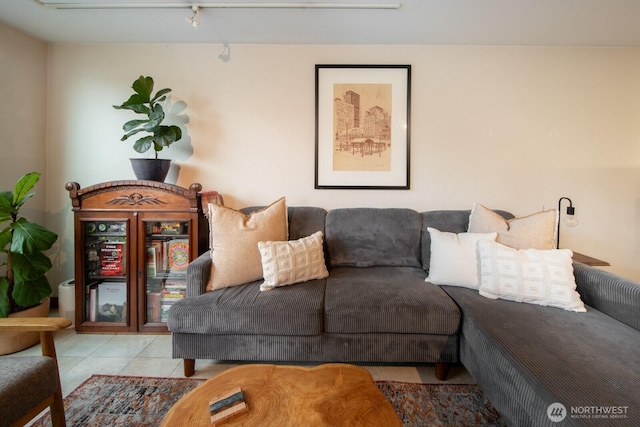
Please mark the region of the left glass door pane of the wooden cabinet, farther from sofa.
<svg viewBox="0 0 640 427"><path fill-rule="evenodd" d="M127 324L127 222L84 221L84 319Z"/></svg>

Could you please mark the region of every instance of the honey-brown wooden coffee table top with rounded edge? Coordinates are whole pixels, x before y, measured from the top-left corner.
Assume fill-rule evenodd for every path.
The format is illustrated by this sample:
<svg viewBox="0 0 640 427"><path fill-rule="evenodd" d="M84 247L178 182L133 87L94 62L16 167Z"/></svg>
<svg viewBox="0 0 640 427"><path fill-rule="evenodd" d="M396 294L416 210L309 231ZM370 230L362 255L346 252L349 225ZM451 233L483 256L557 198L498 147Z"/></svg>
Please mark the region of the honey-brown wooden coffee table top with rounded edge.
<svg viewBox="0 0 640 427"><path fill-rule="evenodd" d="M224 426L401 426L391 404L366 369L348 364L313 368L242 365L185 395L163 426L211 426L209 402L240 388L248 411Z"/></svg>

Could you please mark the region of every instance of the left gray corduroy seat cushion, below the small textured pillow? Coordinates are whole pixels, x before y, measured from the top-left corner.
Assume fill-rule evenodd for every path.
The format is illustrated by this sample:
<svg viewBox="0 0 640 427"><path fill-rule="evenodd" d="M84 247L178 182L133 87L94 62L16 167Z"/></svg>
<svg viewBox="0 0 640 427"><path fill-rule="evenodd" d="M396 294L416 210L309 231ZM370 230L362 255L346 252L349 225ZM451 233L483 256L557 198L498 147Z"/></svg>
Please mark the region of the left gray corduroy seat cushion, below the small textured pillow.
<svg viewBox="0 0 640 427"><path fill-rule="evenodd" d="M171 332L190 334L318 335L325 279L260 292L256 281L177 301Z"/></svg>

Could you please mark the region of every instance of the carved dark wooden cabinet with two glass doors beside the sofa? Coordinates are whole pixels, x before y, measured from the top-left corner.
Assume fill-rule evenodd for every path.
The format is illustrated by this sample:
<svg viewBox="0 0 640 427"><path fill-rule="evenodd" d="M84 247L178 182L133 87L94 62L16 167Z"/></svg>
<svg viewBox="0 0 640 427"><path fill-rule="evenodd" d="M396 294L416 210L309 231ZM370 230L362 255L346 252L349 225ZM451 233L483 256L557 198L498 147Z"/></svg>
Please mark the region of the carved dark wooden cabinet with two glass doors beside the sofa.
<svg viewBox="0 0 640 427"><path fill-rule="evenodd" d="M208 248L200 184L67 183L74 211L76 331L167 332L186 268Z"/></svg>

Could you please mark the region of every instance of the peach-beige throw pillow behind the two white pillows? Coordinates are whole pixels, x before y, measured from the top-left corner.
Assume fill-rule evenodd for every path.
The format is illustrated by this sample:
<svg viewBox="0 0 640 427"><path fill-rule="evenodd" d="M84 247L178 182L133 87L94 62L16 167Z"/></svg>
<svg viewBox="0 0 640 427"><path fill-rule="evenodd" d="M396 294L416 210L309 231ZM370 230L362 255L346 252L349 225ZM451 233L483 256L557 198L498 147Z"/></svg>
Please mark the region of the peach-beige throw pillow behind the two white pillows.
<svg viewBox="0 0 640 427"><path fill-rule="evenodd" d="M516 249L555 249L556 223L555 209L506 220L491 209L476 203L469 217L469 232L496 231L496 242Z"/></svg>

